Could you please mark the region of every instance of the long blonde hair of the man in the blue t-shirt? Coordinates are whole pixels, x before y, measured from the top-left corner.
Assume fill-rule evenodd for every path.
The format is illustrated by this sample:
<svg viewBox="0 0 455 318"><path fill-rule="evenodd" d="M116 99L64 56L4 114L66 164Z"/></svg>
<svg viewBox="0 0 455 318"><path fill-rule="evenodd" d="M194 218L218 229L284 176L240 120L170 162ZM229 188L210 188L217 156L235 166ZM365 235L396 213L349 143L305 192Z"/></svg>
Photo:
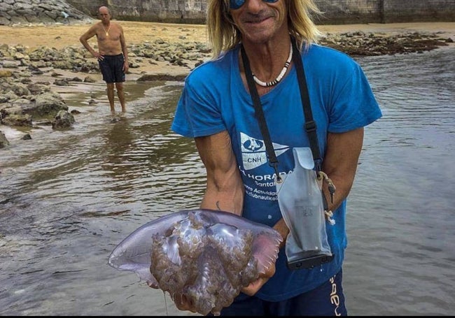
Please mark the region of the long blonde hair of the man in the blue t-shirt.
<svg viewBox="0 0 455 318"><path fill-rule="evenodd" d="M321 15L313 0L286 1L289 34L297 41L297 47L316 43L321 34L312 20L312 15ZM229 0L208 0L207 33L212 48L212 57L231 50L241 42L241 33L229 12Z"/></svg>

